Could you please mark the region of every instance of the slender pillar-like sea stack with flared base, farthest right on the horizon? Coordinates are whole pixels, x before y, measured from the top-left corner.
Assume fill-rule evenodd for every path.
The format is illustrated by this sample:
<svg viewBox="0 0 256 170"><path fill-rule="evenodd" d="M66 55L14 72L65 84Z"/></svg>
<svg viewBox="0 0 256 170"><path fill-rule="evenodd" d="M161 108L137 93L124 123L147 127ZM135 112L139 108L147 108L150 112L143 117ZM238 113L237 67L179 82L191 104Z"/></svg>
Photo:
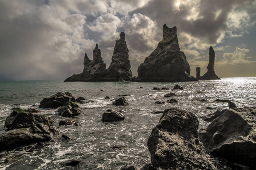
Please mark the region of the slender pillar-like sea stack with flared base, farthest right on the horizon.
<svg viewBox="0 0 256 170"><path fill-rule="evenodd" d="M208 63L208 66L207 66L207 73L205 73L199 79L202 79L202 80L220 79L220 78L218 78L218 76L215 74L215 71L214 71L214 60L215 60L215 52L214 52L212 46L210 46L210 49L209 49L209 63Z"/></svg>

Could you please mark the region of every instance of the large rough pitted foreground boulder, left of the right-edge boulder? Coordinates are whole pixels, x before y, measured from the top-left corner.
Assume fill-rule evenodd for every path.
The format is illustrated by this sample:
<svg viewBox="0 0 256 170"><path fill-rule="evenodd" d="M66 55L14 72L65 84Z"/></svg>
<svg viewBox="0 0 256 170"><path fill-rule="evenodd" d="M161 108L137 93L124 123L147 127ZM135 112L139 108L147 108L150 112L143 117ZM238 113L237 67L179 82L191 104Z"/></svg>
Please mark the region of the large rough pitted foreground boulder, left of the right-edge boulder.
<svg viewBox="0 0 256 170"><path fill-rule="evenodd" d="M216 169L197 138L198 126L193 113L165 110L148 138L151 163L142 169Z"/></svg>

